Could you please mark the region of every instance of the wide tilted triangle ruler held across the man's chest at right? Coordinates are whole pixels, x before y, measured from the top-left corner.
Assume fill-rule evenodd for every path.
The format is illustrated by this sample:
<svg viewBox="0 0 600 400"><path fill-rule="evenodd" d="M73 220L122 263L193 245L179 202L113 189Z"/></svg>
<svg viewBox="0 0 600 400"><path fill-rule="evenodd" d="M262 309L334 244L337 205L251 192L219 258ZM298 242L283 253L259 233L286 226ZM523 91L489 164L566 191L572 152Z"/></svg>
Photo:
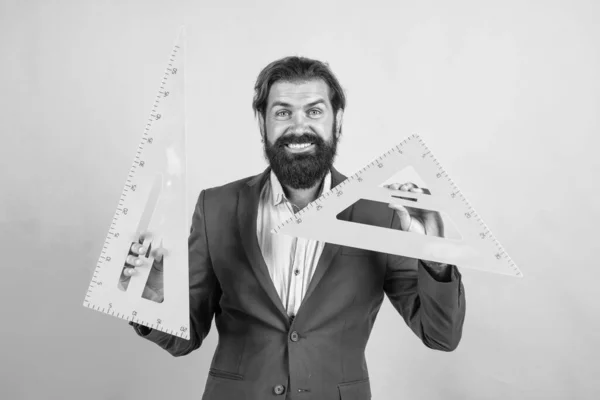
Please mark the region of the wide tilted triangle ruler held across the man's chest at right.
<svg viewBox="0 0 600 400"><path fill-rule="evenodd" d="M431 194L382 186L407 168L418 173ZM449 216L460 238L426 236L337 218L360 199L438 211ZM321 195L273 229L273 233L522 277L504 248L416 134Z"/></svg>

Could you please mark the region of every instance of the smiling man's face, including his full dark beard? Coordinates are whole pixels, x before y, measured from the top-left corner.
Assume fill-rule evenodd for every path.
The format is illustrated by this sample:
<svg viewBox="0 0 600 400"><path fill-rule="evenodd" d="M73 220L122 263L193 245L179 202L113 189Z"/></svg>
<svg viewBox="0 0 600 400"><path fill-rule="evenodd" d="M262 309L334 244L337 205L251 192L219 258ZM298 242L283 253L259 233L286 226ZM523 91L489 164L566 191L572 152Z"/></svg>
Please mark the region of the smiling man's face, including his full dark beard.
<svg viewBox="0 0 600 400"><path fill-rule="evenodd" d="M336 155L341 111L337 117L321 79L271 86L265 118L259 118L265 157L283 185L308 189L327 174Z"/></svg>

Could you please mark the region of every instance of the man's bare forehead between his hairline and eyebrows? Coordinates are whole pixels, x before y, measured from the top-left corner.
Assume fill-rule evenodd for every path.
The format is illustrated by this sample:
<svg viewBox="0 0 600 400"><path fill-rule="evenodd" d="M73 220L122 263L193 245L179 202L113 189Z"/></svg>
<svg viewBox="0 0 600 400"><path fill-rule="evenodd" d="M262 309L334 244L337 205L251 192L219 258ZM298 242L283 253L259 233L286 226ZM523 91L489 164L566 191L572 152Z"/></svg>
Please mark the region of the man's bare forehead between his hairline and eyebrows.
<svg viewBox="0 0 600 400"><path fill-rule="evenodd" d="M329 86L322 79L313 79L304 82L278 81L271 86L267 105L270 106L274 101L303 104L318 99L325 100L331 106L329 102Z"/></svg>

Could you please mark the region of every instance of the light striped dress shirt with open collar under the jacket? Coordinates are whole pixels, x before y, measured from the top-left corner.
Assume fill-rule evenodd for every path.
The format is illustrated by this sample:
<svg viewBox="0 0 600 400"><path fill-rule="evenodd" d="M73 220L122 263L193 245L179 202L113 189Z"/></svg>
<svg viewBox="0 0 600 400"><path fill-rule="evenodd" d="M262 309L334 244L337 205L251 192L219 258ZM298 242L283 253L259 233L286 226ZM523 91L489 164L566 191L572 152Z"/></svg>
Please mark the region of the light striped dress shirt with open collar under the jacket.
<svg viewBox="0 0 600 400"><path fill-rule="evenodd" d="M331 172L328 172L317 197L330 189ZM317 240L271 233L271 229L297 211L299 208L287 199L279 179L271 171L260 194L256 234L271 280L290 317L300 308L325 246Z"/></svg>

